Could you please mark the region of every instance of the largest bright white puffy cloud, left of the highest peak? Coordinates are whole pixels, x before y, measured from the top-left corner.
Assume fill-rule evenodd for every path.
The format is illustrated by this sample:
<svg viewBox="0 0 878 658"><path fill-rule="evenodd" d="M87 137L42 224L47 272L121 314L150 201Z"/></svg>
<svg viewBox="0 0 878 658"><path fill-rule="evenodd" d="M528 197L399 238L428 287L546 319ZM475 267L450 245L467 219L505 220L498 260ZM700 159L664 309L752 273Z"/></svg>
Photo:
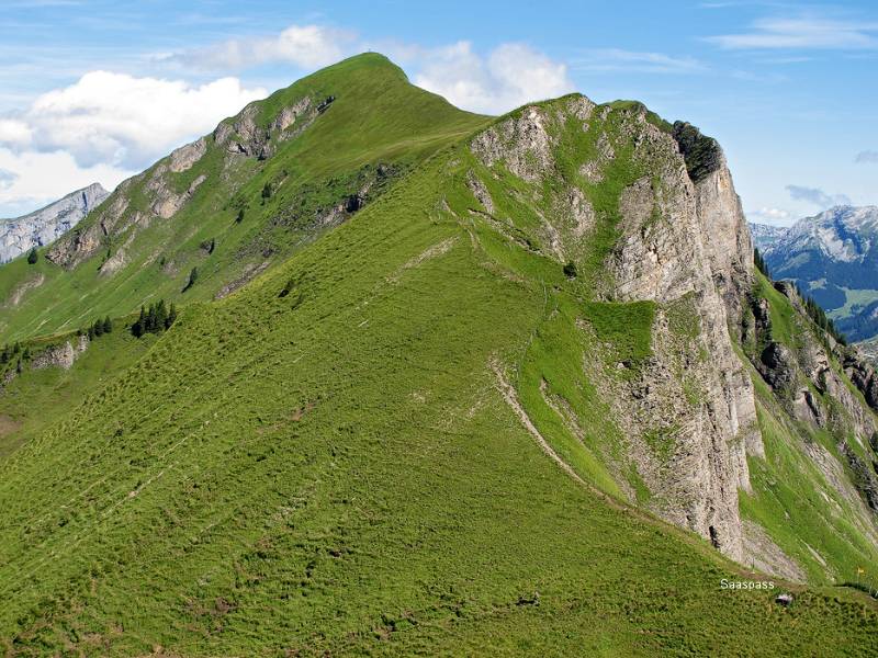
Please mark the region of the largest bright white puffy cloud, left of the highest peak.
<svg viewBox="0 0 878 658"><path fill-rule="evenodd" d="M92 71L0 121L0 146L19 151L63 150L80 167L105 163L139 169L210 132L266 93L245 89L236 78L195 87L180 80Z"/></svg>

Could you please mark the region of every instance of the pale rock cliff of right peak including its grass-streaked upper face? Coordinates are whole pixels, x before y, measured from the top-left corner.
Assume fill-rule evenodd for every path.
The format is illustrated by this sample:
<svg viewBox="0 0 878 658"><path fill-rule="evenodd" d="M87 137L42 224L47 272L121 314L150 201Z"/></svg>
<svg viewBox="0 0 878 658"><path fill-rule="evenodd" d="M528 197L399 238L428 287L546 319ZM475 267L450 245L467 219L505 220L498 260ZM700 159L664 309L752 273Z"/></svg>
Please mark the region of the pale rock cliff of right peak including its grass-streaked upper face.
<svg viewBox="0 0 878 658"><path fill-rule="evenodd" d="M573 156L581 160L571 174L560 154L570 148L565 135L578 139L579 132L592 146ZM596 188L634 172L618 198L617 239L604 264L610 275L596 275L595 292L658 305L652 356L637 376L621 379L584 367L622 426L654 495L652 509L742 559L738 490L750 487L746 454L762 454L762 440L753 386L729 333L752 254L724 159L696 185L677 141L648 121L642 105L596 107L582 97L525 107L479 135L472 150L485 167L496 171L499 163L534 185L534 200L548 179L565 180L541 202L530 200L544 225L544 253L559 261L589 257L615 209L596 205ZM492 214L486 185L471 180L470 189ZM680 336L680 317L696 322L688 336ZM661 456L649 444L656 435L669 446Z"/></svg>

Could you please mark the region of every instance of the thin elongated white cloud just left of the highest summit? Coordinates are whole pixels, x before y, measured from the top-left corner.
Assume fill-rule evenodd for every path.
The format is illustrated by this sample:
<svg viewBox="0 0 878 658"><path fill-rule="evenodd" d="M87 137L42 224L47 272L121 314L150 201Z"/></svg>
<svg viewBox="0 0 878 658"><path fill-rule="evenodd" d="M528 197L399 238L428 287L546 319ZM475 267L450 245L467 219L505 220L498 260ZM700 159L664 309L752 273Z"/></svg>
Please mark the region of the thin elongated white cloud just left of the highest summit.
<svg viewBox="0 0 878 658"><path fill-rule="evenodd" d="M290 25L271 36L233 38L204 48L192 48L159 57L200 69L245 69L284 61L312 69L338 61L350 54L354 35L322 25Z"/></svg>

